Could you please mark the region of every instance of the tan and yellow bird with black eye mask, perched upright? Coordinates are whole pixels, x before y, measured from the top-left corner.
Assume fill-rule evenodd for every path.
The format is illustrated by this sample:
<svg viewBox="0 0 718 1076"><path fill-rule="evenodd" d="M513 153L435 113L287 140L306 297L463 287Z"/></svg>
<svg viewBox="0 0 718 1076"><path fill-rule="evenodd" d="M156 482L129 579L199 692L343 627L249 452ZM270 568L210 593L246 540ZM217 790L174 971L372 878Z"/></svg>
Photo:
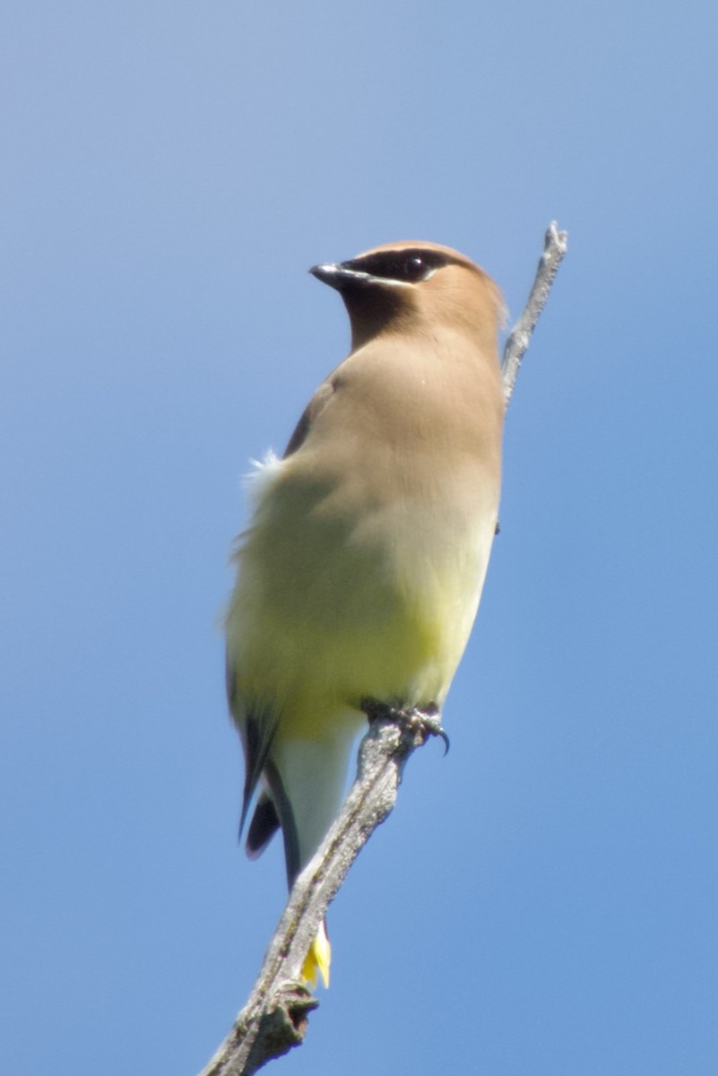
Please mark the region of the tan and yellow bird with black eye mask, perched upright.
<svg viewBox="0 0 718 1076"><path fill-rule="evenodd" d="M225 619L245 758L240 833L281 829L289 889L336 817L368 700L441 712L498 527L501 293L466 256L402 241L310 272L346 358L249 480ZM329 985L326 923L302 977Z"/></svg>

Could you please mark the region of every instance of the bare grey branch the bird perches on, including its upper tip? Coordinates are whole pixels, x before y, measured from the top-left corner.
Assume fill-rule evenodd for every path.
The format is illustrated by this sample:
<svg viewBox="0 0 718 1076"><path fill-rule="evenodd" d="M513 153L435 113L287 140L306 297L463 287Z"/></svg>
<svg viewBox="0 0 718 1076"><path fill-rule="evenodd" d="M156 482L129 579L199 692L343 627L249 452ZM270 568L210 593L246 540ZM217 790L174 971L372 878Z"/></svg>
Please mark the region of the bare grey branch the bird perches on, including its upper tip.
<svg viewBox="0 0 718 1076"><path fill-rule="evenodd" d="M551 223L526 308L502 359L506 406L554 278L566 252L566 232ZM327 908L374 830L391 812L406 760L429 736L443 736L439 716L368 708L371 724L359 747L357 779L314 859L295 882L249 1000L200 1076L252 1076L304 1040L318 1006L300 982L304 957Z"/></svg>

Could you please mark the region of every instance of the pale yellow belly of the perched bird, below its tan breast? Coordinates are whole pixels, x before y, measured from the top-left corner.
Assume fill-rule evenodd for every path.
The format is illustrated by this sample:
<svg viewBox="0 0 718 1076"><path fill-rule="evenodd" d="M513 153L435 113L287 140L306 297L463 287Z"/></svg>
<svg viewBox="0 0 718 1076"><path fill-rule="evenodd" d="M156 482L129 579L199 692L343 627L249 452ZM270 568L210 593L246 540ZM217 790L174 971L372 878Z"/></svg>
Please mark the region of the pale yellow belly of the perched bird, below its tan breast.
<svg viewBox="0 0 718 1076"><path fill-rule="evenodd" d="M416 540L402 506L358 520L292 507L275 497L241 550L227 633L242 694L291 712L299 735L296 721L365 698L441 706L488 548L482 557L476 541L464 542L459 553L444 533L440 554L426 526Z"/></svg>

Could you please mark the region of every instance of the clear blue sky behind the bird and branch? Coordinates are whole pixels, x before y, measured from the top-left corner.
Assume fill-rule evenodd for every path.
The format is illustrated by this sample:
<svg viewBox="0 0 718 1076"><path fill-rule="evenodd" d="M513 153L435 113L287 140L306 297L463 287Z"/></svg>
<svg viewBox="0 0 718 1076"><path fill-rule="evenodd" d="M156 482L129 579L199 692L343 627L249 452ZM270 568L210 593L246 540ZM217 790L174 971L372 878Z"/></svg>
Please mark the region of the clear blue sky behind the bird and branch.
<svg viewBox="0 0 718 1076"><path fill-rule="evenodd" d="M193 1074L284 906L236 845L241 476L345 353L306 269L464 251L522 307L502 532L445 712L330 910L288 1074L718 1070L708 0L11 0L6 1072Z"/></svg>

